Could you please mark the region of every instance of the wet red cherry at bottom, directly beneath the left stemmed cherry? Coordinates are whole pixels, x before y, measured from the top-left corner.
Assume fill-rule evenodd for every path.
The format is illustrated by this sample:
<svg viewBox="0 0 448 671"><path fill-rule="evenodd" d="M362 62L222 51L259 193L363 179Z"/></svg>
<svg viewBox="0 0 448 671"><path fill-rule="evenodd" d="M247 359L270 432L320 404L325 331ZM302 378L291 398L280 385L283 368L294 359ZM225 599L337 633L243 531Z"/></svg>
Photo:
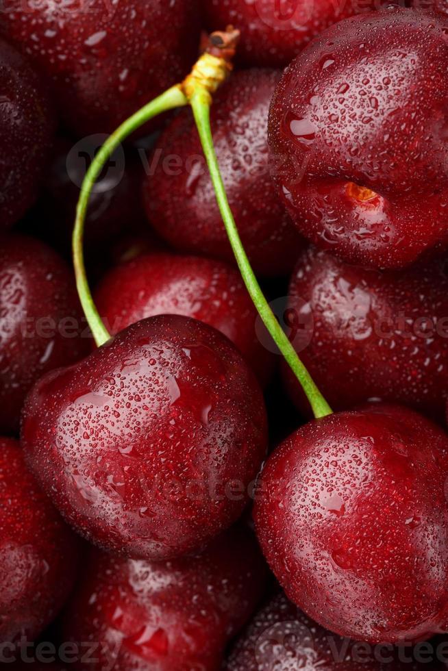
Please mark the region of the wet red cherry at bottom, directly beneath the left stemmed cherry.
<svg viewBox="0 0 448 671"><path fill-rule="evenodd" d="M94 671L106 663L116 671L218 671L227 641L262 596L265 574L251 533L238 527L202 555L174 561L96 550L66 614L64 639L99 643L98 661L88 667Z"/></svg>

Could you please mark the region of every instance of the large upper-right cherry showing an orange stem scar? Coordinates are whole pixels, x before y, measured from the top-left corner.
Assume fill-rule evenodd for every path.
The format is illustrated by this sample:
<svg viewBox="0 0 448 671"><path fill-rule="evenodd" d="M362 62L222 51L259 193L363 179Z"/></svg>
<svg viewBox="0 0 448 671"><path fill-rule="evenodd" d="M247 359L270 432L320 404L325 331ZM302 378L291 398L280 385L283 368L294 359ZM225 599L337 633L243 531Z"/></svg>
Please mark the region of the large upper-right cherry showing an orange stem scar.
<svg viewBox="0 0 448 671"><path fill-rule="evenodd" d="M271 168L299 231L401 268L448 245L448 34L416 10L329 28L284 73Z"/></svg>

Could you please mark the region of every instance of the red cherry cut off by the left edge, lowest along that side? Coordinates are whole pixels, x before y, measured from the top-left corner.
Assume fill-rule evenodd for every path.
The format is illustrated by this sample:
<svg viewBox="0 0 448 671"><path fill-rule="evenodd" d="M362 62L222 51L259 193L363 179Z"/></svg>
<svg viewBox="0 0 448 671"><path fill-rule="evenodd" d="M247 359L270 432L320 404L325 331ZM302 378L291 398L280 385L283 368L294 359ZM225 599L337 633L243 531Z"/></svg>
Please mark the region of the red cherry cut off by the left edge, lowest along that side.
<svg viewBox="0 0 448 671"><path fill-rule="evenodd" d="M78 543L25 467L18 443L0 438L2 644L34 640L53 620L75 578Z"/></svg>

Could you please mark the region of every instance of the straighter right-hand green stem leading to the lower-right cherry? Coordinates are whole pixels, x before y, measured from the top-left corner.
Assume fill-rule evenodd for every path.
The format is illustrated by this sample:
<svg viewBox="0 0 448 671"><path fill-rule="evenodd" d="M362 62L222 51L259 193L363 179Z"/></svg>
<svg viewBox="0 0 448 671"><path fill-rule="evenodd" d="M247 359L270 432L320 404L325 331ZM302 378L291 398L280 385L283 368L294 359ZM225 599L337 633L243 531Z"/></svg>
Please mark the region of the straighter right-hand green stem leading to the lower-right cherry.
<svg viewBox="0 0 448 671"><path fill-rule="evenodd" d="M316 384L310 376L310 373L306 367L303 366L293 345L290 343L286 333L283 331L282 327L279 325L279 322L275 318L275 315L273 314L271 307L266 301L260 285L258 284L256 276L253 273L245 249L242 246L238 229L236 228L234 216L232 214L232 210L230 210L229 202L227 201L227 194L225 192L223 178L221 177L218 159L216 157L216 152L214 151L212 130L210 127L210 95L208 92L199 88L197 92L192 95L190 99L190 105L192 107L193 114L195 115L195 121L199 132L199 137L201 139L203 153L206 157L208 169L210 171L210 177L212 178L212 183L216 194L216 201L218 203L221 216L223 217L227 236L229 238L230 244L232 245L236 262L240 268L242 279L245 281L245 285L251 296L253 304L255 305L258 314L262 318L266 329L268 329L279 351L282 353L291 370L293 370L295 376L299 380L301 387L303 388L303 392L305 392L306 397L308 398L308 401L312 407L314 417L325 417L326 415L332 413L332 409L329 407L327 401L325 401L325 398L323 398L321 392L316 387Z"/></svg>

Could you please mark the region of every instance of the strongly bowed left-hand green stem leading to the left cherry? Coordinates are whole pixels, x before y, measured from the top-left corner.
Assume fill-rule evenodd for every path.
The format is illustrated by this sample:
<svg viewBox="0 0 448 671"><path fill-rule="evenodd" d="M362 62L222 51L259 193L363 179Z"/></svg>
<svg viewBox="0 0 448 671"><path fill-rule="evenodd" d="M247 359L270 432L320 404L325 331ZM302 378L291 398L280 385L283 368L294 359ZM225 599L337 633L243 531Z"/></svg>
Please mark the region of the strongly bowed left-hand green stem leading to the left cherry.
<svg viewBox="0 0 448 671"><path fill-rule="evenodd" d="M188 99L184 94L180 85L173 86L165 91L158 98L142 107L136 114L130 116L125 122L121 124L105 141L95 158L90 164L86 176L81 187L81 194L76 208L75 227L73 228L72 249L73 249L73 265L75 266L76 288L79 295L79 300L82 304L82 309L86 316L90 330L97 346L101 346L110 340L110 333L106 329L101 317L98 314L95 303L93 302L92 293L88 286L86 276L86 266L84 265L84 222L86 220L86 212L88 201L92 188L97 181L101 170L110 156L119 147L129 135L134 133L136 129L147 123L154 116L173 110L175 107L183 107L188 105Z"/></svg>

